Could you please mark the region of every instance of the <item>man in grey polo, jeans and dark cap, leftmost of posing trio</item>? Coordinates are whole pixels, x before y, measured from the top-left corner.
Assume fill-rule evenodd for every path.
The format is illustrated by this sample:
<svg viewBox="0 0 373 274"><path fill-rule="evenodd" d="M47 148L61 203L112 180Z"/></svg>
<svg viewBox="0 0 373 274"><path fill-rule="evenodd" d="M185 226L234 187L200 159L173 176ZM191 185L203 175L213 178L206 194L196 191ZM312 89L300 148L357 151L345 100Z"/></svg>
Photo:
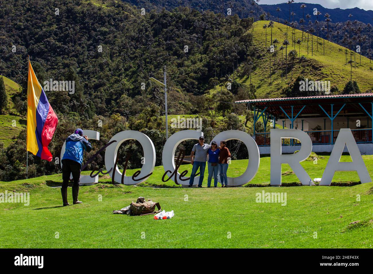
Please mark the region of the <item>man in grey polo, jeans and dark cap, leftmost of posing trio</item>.
<svg viewBox="0 0 373 274"><path fill-rule="evenodd" d="M206 168L206 161L207 161L207 151L211 148L210 145L204 144L205 138L201 136L198 139L198 144L195 144L192 148L192 152L190 154L191 164L193 165L192 174L190 175L189 179L189 188L193 186L194 177L197 173L198 168L200 169L200 180L198 181L198 188L202 188L203 177L205 174ZM193 156L195 154L195 158L193 160Z"/></svg>

